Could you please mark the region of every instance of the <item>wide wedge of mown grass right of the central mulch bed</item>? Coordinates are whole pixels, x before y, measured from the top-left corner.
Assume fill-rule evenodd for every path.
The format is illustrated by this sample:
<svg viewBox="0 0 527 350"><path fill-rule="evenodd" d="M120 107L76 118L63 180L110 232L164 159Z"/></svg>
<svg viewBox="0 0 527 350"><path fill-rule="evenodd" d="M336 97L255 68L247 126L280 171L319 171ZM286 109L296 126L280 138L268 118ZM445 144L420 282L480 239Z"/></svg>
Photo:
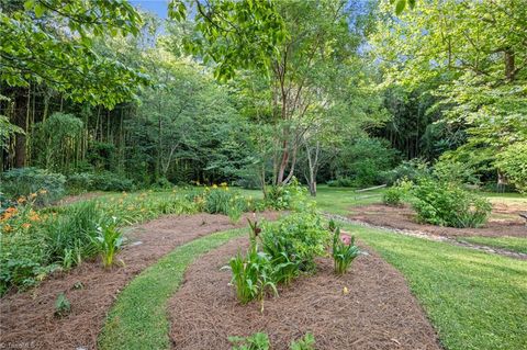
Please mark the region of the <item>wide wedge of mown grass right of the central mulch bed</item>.
<svg viewBox="0 0 527 350"><path fill-rule="evenodd" d="M527 349L527 261L345 227L403 273L446 349Z"/></svg>

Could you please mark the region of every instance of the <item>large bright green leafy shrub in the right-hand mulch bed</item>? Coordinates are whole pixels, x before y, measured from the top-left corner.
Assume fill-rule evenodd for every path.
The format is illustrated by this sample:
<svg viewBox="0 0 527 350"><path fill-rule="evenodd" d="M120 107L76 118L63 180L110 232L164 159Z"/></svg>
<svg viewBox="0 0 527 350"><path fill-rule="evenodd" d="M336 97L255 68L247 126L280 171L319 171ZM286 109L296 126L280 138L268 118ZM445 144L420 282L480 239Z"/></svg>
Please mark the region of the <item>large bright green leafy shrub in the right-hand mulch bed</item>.
<svg viewBox="0 0 527 350"><path fill-rule="evenodd" d="M422 222L451 227L479 227L492 206L458 184L422 179L412 189L412 205Z"/></svg>

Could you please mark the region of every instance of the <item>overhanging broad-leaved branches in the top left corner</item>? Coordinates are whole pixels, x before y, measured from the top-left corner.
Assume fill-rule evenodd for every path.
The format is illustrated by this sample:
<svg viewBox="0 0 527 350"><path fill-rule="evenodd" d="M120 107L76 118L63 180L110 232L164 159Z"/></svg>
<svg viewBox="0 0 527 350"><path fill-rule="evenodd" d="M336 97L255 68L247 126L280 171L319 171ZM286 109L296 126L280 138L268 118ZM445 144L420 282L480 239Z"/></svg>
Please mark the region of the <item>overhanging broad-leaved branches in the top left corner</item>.
<svg viewBox="0 0 527 350"><path fill-rule="evenodd" d="M24 7L7 5L0 12L0 80L11 87L45 83L74 101L112 108L147 79L113 55L96 53L94 43L136 35L141 24L126 1L72 0L64 5L61 0L29 0Z"/></svg>

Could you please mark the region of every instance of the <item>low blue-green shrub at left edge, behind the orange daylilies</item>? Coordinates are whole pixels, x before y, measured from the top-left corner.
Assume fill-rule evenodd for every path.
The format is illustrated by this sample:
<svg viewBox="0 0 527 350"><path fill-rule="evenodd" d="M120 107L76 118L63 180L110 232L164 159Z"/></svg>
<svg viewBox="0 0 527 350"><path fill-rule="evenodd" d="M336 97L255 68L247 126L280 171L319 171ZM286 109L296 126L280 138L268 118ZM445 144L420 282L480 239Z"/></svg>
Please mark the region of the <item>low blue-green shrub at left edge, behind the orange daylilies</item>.
<svg viewBox="0 0 527 350"><path fill-rule="evenodd" d="M0 191L12 199L38 192L36 204L47 205L65 194L65 182L66 178L60 173L37 168L18 168L1 174Z"/></svg>

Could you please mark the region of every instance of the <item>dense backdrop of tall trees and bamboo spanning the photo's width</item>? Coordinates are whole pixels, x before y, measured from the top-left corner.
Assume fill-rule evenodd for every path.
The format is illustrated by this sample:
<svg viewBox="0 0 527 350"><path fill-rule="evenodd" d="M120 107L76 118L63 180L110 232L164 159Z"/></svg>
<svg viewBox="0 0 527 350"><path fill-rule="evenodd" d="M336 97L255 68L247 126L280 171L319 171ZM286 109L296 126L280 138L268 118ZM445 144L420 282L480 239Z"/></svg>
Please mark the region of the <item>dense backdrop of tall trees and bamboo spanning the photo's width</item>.
<svg viewBox="0 0 527 350"><path fill-rule="evenodd" d="M1 168L314 194L422 158L522 183L522 1L408 3L3 0Z"/></svg>

